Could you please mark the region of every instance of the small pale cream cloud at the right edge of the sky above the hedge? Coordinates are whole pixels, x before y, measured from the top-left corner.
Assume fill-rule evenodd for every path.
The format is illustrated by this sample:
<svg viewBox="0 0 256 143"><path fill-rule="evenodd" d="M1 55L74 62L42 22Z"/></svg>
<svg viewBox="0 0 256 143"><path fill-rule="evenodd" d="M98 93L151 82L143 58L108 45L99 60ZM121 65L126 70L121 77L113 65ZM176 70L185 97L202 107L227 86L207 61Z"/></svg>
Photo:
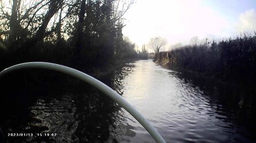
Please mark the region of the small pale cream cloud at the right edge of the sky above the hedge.
<svg viewBox="0 0 256 143"><path fill-rule="evenodd" d="M256 13L254 9L239 14L238 32L253 32L256 30Z"/></svg>

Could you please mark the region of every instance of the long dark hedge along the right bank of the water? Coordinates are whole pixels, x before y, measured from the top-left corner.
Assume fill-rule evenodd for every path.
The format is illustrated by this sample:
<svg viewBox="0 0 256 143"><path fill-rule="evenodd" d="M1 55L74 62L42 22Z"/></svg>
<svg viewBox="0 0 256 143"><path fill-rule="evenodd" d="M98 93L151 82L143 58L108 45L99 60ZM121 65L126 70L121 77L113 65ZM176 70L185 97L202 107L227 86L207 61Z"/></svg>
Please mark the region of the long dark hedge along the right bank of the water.
<svg viewBox="0 0 256 143"><path fill-rule="evenodd" d="M256 82L256 34L204 45L179 47L157 54L169 67L201 73L225 81Z"/></svg>

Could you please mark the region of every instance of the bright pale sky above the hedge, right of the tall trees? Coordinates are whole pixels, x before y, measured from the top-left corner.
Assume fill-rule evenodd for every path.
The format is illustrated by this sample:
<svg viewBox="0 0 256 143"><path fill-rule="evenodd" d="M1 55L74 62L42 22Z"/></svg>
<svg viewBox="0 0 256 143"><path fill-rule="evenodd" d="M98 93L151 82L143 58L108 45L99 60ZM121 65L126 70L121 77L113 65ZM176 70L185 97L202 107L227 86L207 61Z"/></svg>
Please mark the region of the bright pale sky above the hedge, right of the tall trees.
<svg viewBox="0 0 256 143"><path fill-rule="evenodd" d="M123 34L141 47L160 36L173 45L235 37L256 30L255 0L135 0L124 15Z"/></svg>

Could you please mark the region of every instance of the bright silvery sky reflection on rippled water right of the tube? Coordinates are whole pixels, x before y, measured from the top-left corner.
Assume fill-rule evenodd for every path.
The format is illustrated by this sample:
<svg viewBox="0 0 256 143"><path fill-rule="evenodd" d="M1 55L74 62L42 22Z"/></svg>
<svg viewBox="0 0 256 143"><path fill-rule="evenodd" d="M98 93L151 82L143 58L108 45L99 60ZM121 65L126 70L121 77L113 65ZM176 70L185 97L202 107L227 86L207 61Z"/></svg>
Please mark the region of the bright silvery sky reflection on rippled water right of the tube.
<svg viewBox="0 0 256 143"><path fill-rule="evenodd" d="M134 66L136 70L124 80L129 87L124 87L124 97L146 115L167 142L236 142L235 127L227 120L234 115L227 115L230 110L219 103L218 89L213 87L212 93L207 86L194 85L193 80L180 78L182 73L155 63L139 61ZM137 92L148 90L151 92L142 92L147 98L136 98Z"/></svg>

